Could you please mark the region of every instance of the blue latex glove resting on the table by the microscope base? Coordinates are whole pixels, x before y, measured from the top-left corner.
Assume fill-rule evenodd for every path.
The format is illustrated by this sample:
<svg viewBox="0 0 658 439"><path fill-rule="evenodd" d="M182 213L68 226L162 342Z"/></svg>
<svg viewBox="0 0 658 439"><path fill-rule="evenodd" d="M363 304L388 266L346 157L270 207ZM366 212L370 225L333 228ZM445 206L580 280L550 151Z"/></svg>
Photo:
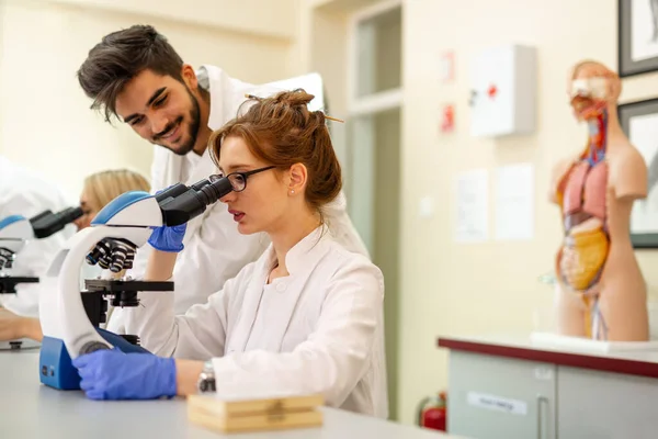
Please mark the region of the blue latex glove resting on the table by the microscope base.
<svg viewBox="0 0 658 439"><path fill-rule="evenodd" d="M154 399L175 396L175 362L151 353L97 350L73 360L90 399Z"/></svg>

